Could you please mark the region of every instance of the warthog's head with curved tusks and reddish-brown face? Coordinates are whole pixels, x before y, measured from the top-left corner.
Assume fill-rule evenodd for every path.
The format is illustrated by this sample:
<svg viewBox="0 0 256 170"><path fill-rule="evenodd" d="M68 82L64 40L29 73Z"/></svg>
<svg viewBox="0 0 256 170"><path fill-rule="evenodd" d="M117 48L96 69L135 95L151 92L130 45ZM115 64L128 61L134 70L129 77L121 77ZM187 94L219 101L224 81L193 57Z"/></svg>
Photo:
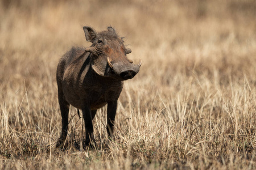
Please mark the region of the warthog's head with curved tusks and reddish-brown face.
<svg viewBox="0 0 256 170"><path fill-rule="evenodd" d="M141 67L141 59L138 65L126 57L131 49L126 49L123 40L115 33L114 28L108 27L108 31L97 33L93 28L84 27L87 41L92 46L86 48L92 53L92 68L101 76L110 76L120 80L133 78Z"/></svg>

